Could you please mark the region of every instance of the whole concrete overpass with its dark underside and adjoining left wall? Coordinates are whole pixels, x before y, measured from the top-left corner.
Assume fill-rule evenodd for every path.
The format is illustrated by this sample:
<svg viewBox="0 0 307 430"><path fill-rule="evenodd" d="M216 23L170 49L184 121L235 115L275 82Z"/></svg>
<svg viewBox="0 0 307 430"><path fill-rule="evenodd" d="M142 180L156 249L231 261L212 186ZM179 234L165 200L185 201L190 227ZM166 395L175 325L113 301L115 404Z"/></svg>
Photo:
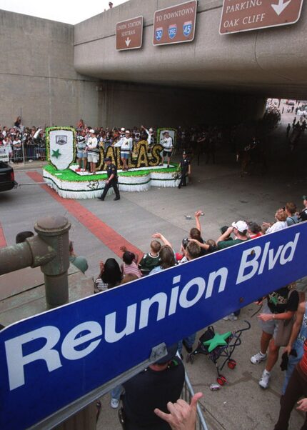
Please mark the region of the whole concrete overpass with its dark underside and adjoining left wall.
<svg viewBox="0 0 307 430"><path fill-rule="evenodd" d="M306 4L297 24L221 36L222 0L199 0L194 41L153 46L154 12L180 2L130 0L76 26L0 11L0 124L218 124L261 117L268 96L307 99ZM140 15L142 48L116 51L116 23Z"/></svg>

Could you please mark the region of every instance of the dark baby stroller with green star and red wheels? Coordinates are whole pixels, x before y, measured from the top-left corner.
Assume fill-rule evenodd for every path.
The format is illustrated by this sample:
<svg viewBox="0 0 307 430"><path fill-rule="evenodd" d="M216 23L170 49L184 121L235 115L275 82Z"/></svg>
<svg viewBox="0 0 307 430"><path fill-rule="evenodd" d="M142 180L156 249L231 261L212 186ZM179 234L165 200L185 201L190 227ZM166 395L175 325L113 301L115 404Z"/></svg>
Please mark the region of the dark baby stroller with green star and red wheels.
<svg viewBox="0 0 307 430"><path fill-rule="evenodd" d="M242 332L251 328L251 324L249 324L248 321L244 322L247 324L244 329L228 331L223 335L216 334L214 327L208 326L208 329L206 329L206 331L199 338L197 348L186 357L186 362L188 363L188 361L191 361L191 364L193 364L194 358L198 354L204 354L208 356L208 359L213 361L213 363L216 365L216 371L218 373L216 382L220 385L226 384L227 379L221 374L221 371L226 363L229 369L234 369L236 367L236 360L233 360L231 356L236 346L241 345ZM214 347L215 343L212 342L212 339L214 339L216 336L218 336L218 339L220 339L221 342L219 342L220 345ZM218 364L218 359L220 359L220 357L223 360L221 365Z"/></svg>

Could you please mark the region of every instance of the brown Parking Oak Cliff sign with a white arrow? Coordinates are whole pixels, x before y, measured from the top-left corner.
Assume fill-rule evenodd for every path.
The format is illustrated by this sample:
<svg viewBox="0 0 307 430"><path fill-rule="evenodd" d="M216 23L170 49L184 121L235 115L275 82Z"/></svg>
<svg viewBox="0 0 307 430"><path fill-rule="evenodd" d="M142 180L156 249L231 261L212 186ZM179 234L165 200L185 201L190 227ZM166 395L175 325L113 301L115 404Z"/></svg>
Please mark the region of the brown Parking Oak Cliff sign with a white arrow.
<svg viewBox="0 0 307 430"><path fill-rule="evenodd" d="M295 24L303 0L223 0L220 34Z"/></svg>

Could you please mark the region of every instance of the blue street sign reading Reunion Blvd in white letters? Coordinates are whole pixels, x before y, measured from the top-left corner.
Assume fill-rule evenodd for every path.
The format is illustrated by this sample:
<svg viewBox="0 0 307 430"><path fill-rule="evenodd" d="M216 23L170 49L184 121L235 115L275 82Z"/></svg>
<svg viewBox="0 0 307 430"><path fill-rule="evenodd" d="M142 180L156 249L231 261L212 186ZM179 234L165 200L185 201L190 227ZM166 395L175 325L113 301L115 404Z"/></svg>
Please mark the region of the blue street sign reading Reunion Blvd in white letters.
<svg viewBox="0 0 307 430"><path fill-rule="evenodd" d="M307 221L1 330L0 429L40 423L148 360L154 346L305 276L306 237Z"/></svg>

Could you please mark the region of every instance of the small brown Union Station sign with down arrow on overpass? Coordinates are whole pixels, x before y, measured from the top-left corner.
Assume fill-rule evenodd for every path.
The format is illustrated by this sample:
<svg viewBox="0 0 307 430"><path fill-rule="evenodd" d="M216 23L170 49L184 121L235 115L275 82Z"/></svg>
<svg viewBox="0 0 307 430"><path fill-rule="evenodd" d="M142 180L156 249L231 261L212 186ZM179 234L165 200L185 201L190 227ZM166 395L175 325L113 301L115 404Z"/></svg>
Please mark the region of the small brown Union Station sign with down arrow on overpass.
<svg viewBox="0 0 307 430"><path fill-rule="evenodd" d="M137 16L116 24L116 50L139 49L143 43L144 17Z"/></svg>

